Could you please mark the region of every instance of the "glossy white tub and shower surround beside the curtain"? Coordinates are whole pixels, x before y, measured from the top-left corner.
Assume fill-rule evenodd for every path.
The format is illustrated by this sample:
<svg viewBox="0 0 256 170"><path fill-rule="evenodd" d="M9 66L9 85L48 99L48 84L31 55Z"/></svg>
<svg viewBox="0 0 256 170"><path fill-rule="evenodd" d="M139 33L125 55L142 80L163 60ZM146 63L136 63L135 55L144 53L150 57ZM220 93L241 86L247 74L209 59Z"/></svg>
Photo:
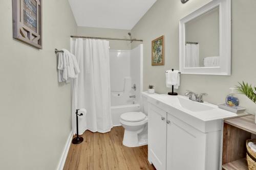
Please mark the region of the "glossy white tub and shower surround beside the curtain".
<svg viewBox="0 0 256 170"><path fill-rule="evenodd" d="M132 50L110 50L111 115L113 126L120 116L141 111L143 45Z"/></svg>

